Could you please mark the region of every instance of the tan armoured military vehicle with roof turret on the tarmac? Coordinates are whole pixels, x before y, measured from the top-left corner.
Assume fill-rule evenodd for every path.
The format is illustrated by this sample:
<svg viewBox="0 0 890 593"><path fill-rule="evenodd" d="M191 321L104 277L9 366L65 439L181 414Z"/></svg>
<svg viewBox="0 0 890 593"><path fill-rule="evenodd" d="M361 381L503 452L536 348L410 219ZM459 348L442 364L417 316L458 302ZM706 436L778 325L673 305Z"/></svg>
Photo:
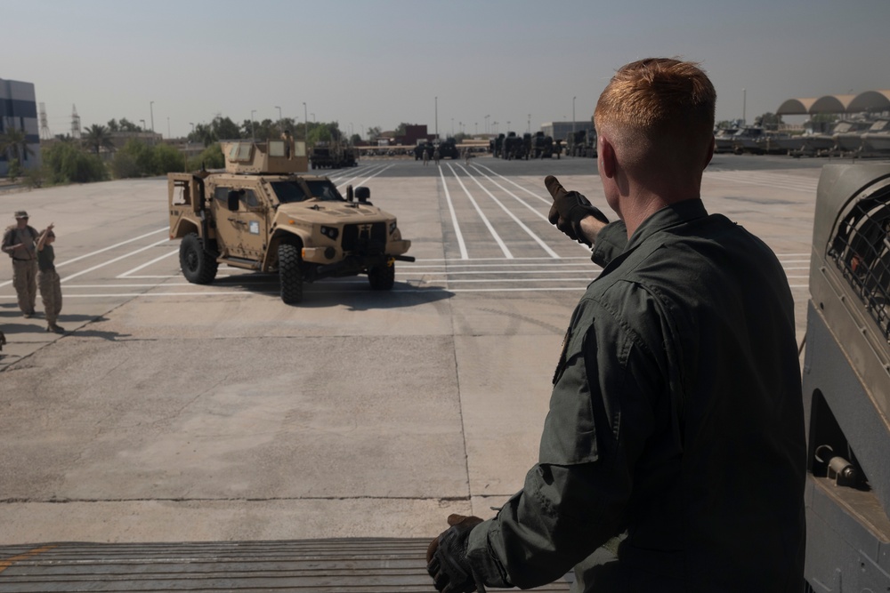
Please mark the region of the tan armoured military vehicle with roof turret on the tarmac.
<svg viewBox="0 0 890 593"><path fill-rule="evenodd" d="M395 260L411 242L392 214L368 200L370 190L346 188L307 170L305 144L290 137L223 143L225 172L169 173L170 238L181 238L179 260L189 282L214 281L220 263L277 271L281 300L303 301L303 282L368 275L374 290L390 290Z"/></svg>

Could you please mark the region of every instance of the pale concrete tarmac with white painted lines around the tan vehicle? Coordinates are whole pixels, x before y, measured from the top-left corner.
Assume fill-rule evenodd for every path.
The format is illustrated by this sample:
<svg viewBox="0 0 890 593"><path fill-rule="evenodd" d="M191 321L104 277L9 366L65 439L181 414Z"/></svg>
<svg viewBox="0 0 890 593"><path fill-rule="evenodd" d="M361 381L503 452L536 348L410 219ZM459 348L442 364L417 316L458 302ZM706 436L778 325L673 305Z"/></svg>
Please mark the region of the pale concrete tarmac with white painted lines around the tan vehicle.
<svg viewBox="0 0 890 593"><path fill-rule="evenodd" d="M702 186L779 256L798 342L824 162L716 156ZM522 487L562 335L600 271L546 221L543 178L606 211L595 162L328 173L371 188L413 241L392 292L326 280L289 307L276 276L189 284L166 179L0 194L9 223L19 209L55 223L68 330L21 317L0 267L0 544L432 537Z"/></svg>

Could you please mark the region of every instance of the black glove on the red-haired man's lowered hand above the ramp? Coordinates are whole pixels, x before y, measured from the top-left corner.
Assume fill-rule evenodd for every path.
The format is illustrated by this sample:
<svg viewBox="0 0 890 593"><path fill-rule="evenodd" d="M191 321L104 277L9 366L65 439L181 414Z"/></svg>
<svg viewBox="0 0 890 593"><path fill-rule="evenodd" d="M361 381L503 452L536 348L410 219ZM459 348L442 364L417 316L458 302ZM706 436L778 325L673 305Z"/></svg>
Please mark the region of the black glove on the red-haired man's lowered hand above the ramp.
<svg viewBox="0 0 890 593"><path fill-rule="evenodd" d="M479 517L449 515L449 529L430 542L426 549L426 572L441 593L471 593L476 590L473 569L466 560L466 546Z"/></svg>

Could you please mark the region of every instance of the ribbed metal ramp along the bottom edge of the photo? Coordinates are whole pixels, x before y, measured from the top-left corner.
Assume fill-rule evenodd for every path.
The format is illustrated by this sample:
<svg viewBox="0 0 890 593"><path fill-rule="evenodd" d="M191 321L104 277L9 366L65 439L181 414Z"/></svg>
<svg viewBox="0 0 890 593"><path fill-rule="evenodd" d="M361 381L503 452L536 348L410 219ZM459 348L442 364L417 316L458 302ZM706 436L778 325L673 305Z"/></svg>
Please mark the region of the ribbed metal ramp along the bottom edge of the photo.
<svg viewBox="0 0 890 593"><path fill-rule="evenodd" d="M434 593L426 539L0 546L0 591ZM561 581L535 589L568 591Z"/></svg>

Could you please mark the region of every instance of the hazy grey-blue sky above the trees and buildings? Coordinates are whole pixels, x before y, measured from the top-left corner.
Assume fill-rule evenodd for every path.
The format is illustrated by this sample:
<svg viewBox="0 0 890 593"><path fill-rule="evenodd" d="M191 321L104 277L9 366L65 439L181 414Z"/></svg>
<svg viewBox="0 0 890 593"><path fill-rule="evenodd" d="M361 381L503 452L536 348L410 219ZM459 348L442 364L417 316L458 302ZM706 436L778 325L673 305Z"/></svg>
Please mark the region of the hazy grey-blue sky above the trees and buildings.
<svg viewBox="0 0 890 593"><path fill-rule="evenodd" d="M180 136L303 102L344 132L534 131L650 56L700 61L718 120L890 89L890 0L0 0L0 23L0 78L35 84L53 133L72 106Z"/></svg>

